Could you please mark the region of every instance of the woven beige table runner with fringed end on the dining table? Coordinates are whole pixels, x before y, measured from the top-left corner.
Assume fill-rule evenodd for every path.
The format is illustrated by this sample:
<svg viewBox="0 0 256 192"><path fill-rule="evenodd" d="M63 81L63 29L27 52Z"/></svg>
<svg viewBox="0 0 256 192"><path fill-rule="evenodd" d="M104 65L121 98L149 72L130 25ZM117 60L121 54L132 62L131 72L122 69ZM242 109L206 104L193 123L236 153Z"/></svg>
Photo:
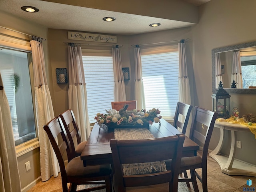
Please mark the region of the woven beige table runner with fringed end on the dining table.
<svg viewBox="0 0 256 192"><path fill-rule="evenodd" d="M154 138L148 128L116 128L114 136L117 140L136 140ZM123 164L124 175L149 174L166 170L165 161Z"/></svg>

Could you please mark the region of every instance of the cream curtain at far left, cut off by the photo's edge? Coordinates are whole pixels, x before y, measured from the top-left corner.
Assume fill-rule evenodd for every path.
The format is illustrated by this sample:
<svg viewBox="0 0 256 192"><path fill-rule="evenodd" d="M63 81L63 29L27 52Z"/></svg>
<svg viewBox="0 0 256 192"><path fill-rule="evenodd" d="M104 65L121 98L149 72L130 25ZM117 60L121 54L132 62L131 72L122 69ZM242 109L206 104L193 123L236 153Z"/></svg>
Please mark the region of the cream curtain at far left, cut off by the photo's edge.
<svg viewBox="0 0 256 192"><path fill-rule="evenodd" d="M0 74L0 191L21 192L12 118Z"/></svg>

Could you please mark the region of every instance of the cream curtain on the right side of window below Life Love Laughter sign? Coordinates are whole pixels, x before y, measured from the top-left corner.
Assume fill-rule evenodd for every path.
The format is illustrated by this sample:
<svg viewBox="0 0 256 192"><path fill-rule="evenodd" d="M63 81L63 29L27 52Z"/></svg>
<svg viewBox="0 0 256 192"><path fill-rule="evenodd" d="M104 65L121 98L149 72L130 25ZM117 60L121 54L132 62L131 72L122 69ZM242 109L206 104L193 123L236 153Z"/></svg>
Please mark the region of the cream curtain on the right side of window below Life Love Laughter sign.
<svg viewBox="0 0 256 192"><path fill-rule="evenodd" d="M126 101L124 75L122 72L121 53L119 46L113 46L113 68L114 68L114 101Z"/></svg>

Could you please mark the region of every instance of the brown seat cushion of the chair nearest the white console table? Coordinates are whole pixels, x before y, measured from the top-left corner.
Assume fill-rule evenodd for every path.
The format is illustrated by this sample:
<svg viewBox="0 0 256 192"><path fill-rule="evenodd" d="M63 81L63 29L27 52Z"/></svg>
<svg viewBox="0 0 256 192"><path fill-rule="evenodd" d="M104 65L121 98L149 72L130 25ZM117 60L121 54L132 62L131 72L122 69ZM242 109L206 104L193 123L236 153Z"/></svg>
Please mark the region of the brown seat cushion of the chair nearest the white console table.
<svg viewBox="0 0 256 192"><path fill-rule="evenodd" d="M166 160L166 168L167 170L171 170L171 164L172 160ZM200 156L193 156L193 157L182 157L180 162L180 169L182 170L182 167L189 167L189 166L197 166L200 167L202 164L202 158Z"/></svg>

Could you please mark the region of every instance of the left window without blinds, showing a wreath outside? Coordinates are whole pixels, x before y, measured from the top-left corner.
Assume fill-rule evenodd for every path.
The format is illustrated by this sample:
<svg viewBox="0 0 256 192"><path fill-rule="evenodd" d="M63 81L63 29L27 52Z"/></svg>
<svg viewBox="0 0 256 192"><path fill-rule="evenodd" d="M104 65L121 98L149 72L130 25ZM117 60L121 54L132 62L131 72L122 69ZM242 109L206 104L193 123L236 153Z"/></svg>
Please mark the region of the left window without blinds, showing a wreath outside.
<svg viewBox="0 0 256 192"><path fill-rule="evenodd" d="M31 53L0 48L0 73L10 105L15 145L36 138L28 59Z"/></svg>

